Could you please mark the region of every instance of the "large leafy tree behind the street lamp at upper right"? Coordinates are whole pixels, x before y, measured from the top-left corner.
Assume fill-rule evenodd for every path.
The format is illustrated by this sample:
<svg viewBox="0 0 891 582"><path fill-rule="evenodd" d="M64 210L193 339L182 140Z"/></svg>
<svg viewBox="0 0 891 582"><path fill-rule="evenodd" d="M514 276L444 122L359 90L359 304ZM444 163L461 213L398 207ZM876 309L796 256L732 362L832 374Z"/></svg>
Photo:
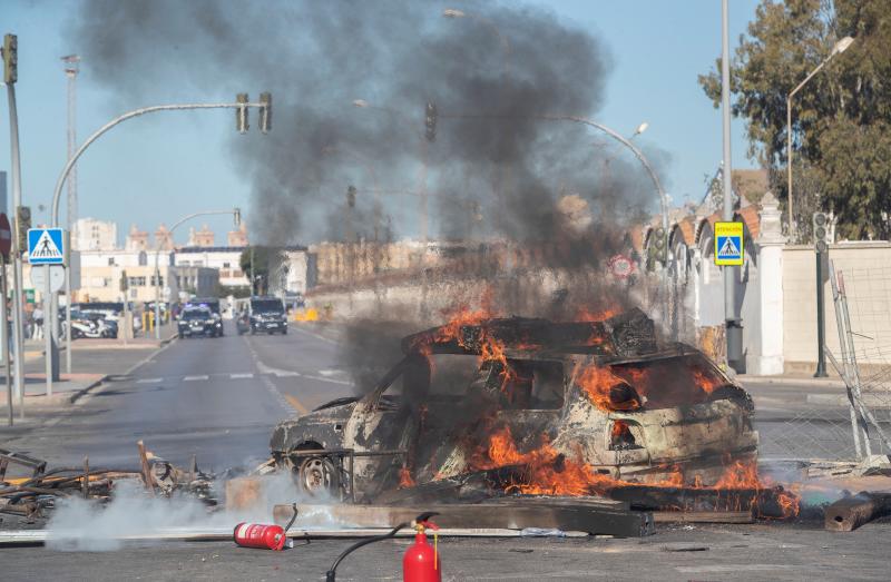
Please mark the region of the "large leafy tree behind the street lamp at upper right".
<svg viewBox="0 0 891 582"><path fill-rule="evenodd" d="M786 96L839 39L835 56L792 100L792 146L799 227L810 210L835 214L849 238L885 238L891 214L891 11L888 0L763 0L731 69L733 114L747 120L748 156L784 176ZM721 61L699 83L715 107ZM784 179L773 189L787 198ZM804 204L799 205L799 200ZM806 229L805 229L806 230Z"/></svg>

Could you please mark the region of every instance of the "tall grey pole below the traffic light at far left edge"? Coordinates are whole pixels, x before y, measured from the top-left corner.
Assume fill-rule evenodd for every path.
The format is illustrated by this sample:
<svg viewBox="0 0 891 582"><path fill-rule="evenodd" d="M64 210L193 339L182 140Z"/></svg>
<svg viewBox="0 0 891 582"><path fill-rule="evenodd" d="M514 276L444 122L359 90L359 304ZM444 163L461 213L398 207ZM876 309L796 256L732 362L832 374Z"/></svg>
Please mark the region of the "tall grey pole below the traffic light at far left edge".
<svg viewBox="0 0 891 582"><path fill-rule="evenodd" d="M16 351L16 394L19 396L19 418L25 418L25 338L22 337L25 314L22 313L22 249L19 248L19 240L22 235L19 233L18 220L18 211L21 206L21 158L19 156L19 114L16 107L16 86L13 83L7 85L7 99L9 100L9 150L12 157L10 168L12 208L16 213L16 219L12 221L12 280L14 285L12 293L12 327L14 333L12 337L14 338Z"/></svg>

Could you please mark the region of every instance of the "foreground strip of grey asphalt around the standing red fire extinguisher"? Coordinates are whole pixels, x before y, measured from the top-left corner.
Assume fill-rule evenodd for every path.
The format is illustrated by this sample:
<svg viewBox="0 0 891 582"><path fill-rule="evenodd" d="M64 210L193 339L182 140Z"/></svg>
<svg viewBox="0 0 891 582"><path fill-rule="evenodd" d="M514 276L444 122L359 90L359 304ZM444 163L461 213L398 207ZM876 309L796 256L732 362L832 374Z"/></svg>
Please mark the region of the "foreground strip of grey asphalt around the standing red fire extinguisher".
<svg viewBox="0 0 891 582"><path fill-rule="evenodd" d="M665 525L643 539L450 539L439 541L442 580L888 580L891 524L848 534L786 524ZM284 552L232 542L165 543L115 552L0 550L3 580L324 580L353 541ZM339 580L401 580L408 540L351 554Z"/></svg>

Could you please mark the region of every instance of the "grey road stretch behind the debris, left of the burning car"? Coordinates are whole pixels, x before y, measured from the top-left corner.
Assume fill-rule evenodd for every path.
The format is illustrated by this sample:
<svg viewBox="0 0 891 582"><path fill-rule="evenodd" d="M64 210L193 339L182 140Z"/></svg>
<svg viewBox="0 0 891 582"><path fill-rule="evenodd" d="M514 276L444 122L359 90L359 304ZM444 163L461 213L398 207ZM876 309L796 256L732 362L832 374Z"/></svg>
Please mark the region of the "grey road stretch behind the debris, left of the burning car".
<svg viewBox="0 0 891 582"><path fill-rule="evenodd" d="M150 353L147 353L150 354ZM114 356L95 356L114 357ZM273 426L351 394L336 344L311 332L177 339L69 414L6 441L50 465L135 467L136 442L175 464L222 471L268 457Z"/></svg>

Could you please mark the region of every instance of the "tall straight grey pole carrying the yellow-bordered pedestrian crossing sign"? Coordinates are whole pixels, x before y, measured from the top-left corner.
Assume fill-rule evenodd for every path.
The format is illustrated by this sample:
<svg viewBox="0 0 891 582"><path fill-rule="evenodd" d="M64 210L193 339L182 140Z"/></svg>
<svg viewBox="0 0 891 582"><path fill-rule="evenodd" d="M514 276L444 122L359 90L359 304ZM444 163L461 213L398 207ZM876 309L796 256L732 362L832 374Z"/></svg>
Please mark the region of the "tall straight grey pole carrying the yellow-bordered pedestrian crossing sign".
<svg viewBox="0 0 891 582"><path fill-rule="evenodd" d="M731 165L731 49L727 24L727 0L721 2L721 109L724 126L724 215L733 220L733 184ZM743 326L736 316L736 267L724 267L724 322L727 333L727 365L736 372L744 369Z"/></svg>

